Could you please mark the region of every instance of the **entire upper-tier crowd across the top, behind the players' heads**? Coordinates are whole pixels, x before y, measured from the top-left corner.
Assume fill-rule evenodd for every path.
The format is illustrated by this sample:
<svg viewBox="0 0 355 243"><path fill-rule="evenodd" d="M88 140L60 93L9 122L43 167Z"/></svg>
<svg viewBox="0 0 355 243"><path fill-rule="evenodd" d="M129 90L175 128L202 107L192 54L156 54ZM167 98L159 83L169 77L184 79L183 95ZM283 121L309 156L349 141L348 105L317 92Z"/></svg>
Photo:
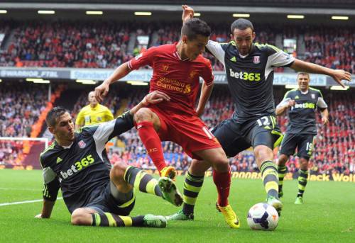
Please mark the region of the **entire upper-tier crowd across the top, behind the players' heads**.
<svg viewBox="0 0 355 243"><path fill-rule="evenodd" d="M229 24L209 25L212 28L211 40L221 43L230 40ZM128 51L131 33L148 35L148 47L151 47L178 41L180 28L180 22L6 23L0 26L0 31L4 30L6 35L13 31L13 38L7 50L0 50L0 66L114 68L143 51L138 48L137 41L133 51ZM282 38L304 38L305 53L300 53L300 58L326 67L349 72L354 70L354 27L269 26L254 23L254 28L256 43L275 45L277 35ZM215 71L224 69L212 55L204 53L204 57L211 60ZM283 72L283 69L277 69L277 72Z"/></svg>

